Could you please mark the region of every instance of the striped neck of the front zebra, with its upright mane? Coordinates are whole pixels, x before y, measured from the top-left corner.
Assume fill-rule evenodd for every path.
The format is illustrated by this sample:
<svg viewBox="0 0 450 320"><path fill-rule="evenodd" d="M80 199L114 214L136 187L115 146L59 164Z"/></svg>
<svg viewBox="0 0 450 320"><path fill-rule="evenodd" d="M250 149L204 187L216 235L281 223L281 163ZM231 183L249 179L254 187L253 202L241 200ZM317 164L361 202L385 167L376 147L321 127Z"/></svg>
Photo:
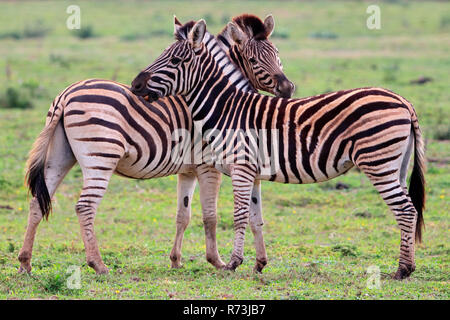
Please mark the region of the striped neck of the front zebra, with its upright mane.
<svg viewBox="0 0 450 320"><path fill-rule="evenodd" d="M203 39L206 46L202 81L186 96L195 121L207 120L214 109L223 107L221 99L241 93L254 93L256 90L241 69L232 61L227 47L210 33ZM230 47L228 47L230 48ZM220 112L220 110L218 111Z"/></svg>

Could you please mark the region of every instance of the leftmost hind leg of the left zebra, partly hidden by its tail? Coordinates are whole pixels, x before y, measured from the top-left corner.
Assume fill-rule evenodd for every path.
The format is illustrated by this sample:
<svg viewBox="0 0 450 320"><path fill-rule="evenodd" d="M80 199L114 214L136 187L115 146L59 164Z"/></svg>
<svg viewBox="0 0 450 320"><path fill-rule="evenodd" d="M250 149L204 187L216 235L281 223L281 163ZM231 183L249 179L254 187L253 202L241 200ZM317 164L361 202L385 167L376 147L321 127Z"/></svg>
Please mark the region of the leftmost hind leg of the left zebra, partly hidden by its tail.
<svg viewBox="0 0 450 320"><path fill-rule="evenodd" d="M67 142L61 124L55 128L45 164L44 176L45 184L50 197L53 197L55 191L61 181L64 179L69 170L73 167L76 160ZM36 229L42 220L42 212L39 203L35 197L30 201L30 212L28 215L27 231L22 249L19 252L20 267L18 272L31 272L31 256L33 252L33 244L36 236Z"/></svg>

